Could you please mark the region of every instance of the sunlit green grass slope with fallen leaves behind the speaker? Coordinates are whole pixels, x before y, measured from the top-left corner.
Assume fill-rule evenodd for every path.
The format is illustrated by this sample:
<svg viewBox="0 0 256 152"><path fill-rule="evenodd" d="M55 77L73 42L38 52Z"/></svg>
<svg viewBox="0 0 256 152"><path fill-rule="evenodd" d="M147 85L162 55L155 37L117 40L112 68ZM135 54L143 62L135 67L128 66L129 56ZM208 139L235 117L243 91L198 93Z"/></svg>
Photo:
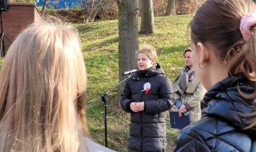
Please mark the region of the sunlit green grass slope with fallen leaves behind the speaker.
<svg viewBox="0 0 256 152"><path fill-rule="evenodd" d="M156 29L154 34L139 35L139 45L147 43L156 48L158 63L163 66L165 74L172 81L184 64L182 51L190 43L187 27L192 16L179 15L154 19ZM81 38L88 73L86 99L88 103L94 102L86 108L91 137L104 145L104 102L98 97L118 84L118 20L75 23L73 26L77 28ZM0 59L0 68L3 59ZM111 100L107 107L108 147L116 151L127 151L130 115L122 111L119 105L111 104L115 103L113 102L115 95L116 90L113 89L109 93ZM171 151L176 140L176 133L170 130L168 116L167 113L167 152Z"/></svg>

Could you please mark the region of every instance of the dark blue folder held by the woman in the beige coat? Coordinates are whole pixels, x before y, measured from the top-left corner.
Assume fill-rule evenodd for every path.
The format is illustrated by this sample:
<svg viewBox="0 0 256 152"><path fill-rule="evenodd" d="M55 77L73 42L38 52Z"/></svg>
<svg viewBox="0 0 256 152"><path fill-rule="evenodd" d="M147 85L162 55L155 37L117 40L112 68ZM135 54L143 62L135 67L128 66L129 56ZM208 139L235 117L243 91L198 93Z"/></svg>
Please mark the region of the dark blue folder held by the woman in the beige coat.
<svg viewBox="0 0 256 152"><path fill-rule="evenodd" d="M171 128L173 129L183 129L185 126L190 124L190 115L182 115L179 117L179 111L169 111Z"/></svg>

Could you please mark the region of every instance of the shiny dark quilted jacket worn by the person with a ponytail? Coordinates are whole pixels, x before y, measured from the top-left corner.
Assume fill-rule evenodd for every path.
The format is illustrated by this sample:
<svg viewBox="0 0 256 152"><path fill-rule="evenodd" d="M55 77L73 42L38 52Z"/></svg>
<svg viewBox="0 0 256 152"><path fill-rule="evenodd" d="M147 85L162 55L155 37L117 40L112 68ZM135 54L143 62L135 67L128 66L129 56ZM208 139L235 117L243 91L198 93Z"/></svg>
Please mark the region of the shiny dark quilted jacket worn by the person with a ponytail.
<svg viewBox="0 0 256 152"><path fill-rule="evenodd" d="M256 126L244 130L255 116L255 99L242 97L255 91L253 82L244 74L227 77L205 94L201 107L202 120L185 127L179 133L174 151L256 151Z"/></svg>

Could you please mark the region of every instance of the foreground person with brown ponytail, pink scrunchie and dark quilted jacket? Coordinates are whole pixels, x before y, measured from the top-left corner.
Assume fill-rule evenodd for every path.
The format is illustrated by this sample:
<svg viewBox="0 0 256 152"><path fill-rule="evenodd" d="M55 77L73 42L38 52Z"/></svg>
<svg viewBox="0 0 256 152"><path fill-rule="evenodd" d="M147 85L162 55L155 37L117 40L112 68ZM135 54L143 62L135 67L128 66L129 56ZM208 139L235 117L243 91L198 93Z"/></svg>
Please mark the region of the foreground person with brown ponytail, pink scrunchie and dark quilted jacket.
<svg viewBox="0 0 256 152"><path fill-rule="evenodd" d="M174 151L256 151L256 6L208 0L190 23L192 64L204 88L203 118L179 133Z"/></svg>

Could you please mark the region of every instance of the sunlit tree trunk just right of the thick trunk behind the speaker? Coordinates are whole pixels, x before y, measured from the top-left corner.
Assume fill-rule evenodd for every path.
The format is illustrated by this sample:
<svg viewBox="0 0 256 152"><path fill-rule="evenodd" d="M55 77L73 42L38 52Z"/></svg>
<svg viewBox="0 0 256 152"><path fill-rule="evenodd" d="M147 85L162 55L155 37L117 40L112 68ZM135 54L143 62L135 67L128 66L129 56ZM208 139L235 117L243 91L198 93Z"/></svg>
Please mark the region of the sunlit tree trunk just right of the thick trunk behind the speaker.
<svg viewBox="0 0 256 152"><path fill-rule="evenodd" d="M141 26L142 34L149 34L155 31L153 0L141 0Z"/></svg>

